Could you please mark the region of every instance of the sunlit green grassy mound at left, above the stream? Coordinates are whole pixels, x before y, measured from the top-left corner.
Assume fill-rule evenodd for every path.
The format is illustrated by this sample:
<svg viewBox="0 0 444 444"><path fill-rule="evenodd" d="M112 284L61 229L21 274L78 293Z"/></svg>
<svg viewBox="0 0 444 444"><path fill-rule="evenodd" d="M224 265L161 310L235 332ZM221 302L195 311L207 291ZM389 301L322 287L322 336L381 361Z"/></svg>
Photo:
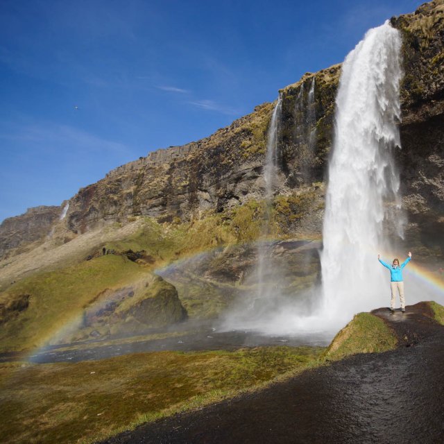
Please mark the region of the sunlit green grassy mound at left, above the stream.
<svg viewBox="0 0 444 444"><path fill-rule="evenodd" d="M146 268L122 256L108 255L58 271L37 273L12 285L0 301L29 294L28 308L4 323L0 351L39 347L83 313L103 289L117 289L148 278Z"/></svg>

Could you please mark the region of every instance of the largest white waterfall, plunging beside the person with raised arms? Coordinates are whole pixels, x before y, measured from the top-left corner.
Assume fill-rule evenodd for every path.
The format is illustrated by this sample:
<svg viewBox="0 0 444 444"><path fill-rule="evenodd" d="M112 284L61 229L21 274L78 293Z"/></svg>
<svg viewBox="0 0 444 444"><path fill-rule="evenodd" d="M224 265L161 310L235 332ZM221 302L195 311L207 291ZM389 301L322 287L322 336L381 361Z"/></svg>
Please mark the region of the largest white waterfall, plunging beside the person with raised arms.
<svg viewBox="0 0 444 444"><path fill-rule="evenodd" d="M400 146L400 47L400 33L386 22L342 67L321 257L323 309L338 323L388 302L377 253L389 245L384 225L402 234L394 213L384 211L384 203L400 207L392 157Z"/></svg>

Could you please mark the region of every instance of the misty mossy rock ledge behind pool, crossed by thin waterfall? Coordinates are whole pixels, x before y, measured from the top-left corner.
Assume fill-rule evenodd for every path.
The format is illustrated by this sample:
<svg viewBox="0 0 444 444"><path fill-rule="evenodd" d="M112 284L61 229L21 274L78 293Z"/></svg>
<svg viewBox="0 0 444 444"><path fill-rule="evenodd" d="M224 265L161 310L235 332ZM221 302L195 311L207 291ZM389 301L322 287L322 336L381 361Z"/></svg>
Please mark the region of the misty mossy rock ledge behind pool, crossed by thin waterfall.
<svg viewBox="0 0 444 444"><path fill-rule="evenodd" d="M261 282L273 284L284 298L305 297L301 291L320 282L321 242L268 241L259 248L268 264ZM190 318L214 318L257 290L257 255L257 244L216 248L157 273L176 287Z"/></svg>

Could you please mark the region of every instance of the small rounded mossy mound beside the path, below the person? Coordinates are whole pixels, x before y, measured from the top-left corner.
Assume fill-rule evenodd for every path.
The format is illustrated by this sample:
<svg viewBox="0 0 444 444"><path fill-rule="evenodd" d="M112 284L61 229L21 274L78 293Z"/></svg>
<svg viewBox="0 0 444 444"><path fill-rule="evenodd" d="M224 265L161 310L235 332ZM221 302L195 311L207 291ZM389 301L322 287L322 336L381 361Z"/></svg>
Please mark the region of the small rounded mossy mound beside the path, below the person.
<svg viewBox="0 0 444 444"><path fill-rule="evenodd" d="M323 355L338 360L357 353L393 350L398 339L382 319L370 313L357 314L336 336Z"/></svg>

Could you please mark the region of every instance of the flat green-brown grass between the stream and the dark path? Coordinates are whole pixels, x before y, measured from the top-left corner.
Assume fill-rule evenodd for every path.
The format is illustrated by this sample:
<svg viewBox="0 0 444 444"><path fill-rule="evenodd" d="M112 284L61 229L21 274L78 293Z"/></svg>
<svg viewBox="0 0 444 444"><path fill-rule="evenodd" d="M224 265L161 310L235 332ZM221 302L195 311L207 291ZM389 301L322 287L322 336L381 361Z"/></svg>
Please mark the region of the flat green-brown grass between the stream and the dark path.
<svg viewBox="0 0 444 444"><path fill-rule="evenodd" d="M11 443L91 443L294 375L320 353L277 347L3 364L0 435Z"/></svg>

